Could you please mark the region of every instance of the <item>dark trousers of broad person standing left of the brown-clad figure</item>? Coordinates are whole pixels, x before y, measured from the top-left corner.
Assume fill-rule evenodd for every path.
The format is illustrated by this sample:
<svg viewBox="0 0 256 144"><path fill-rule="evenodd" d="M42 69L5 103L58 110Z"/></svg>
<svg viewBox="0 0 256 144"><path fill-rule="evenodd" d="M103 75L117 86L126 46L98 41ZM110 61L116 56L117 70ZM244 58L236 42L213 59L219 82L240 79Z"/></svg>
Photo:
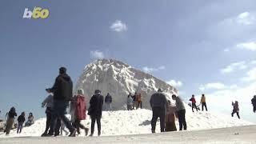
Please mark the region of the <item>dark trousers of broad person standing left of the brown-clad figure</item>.
<svg viewBox="0 0 256 144"><path fill-rule="evenodd" d="M165 131L165 115L166 115L165 114L166 113L165 108L153 107L152 110L153 110L153 117L152 117L152 120L151 120L151 130L152 130L152 133L155 132L155 126L157 124L158 117L160 118L160 129L161 129L161 132L164 132Z"/></svg>

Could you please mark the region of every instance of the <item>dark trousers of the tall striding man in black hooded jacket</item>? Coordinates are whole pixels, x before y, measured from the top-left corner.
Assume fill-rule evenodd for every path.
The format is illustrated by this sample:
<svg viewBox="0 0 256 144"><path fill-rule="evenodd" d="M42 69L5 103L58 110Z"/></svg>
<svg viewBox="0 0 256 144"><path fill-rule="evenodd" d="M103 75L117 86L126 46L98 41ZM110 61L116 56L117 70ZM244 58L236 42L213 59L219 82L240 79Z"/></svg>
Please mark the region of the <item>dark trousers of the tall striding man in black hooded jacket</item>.
<svg viewBox="0 0 256 144"><path fill-rule="evenodd" d="M70 120L68 118L66 118L66 116L65 116L67 106L69 106L69 102L54 100L54 109L53 109L53 113L52 113L51 119L50 119L49 134L51 134L51 135L54 134L55 127L57 126L56 121L58 118L60 118L62 120L62 122L64 122L66 128L68 130L70 130L70 132L72 130L74 130L74 127L71 125ZM61 122L59 122L59 123L60 123L59 125L61 125Z"/></svg>

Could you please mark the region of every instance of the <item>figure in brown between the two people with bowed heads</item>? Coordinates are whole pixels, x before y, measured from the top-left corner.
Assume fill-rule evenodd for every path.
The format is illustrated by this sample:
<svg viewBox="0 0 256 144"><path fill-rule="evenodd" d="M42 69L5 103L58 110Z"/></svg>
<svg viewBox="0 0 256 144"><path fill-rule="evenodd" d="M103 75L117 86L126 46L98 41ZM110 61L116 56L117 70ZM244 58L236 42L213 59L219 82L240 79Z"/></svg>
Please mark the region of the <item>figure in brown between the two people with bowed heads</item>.
<svg viewBox="0 0 256 144"><path fill-rule="evenodd" d="M166 131L177 131L175 125L175 106L172 106L168 100L168 110L166 113Z"/></svg>

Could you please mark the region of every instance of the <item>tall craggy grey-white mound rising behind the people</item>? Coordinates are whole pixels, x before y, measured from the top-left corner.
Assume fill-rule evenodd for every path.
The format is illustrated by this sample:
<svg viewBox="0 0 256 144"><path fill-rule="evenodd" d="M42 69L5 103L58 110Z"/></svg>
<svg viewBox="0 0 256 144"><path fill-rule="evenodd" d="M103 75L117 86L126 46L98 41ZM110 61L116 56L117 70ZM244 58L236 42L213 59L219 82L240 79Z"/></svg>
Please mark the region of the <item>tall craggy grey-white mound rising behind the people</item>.
<svg viewBox="0 0 256 144"><path fill-rule="evenodd" d="M87 99L94 90L102 90L102 95L110 93L114 110L126 110L126 98L131 92L142 93L143 108L150 109L150 96L158 88L167 94L177 94L178 90L166 82L136 70L126 63L114 59L99 59L88 64L78 78L75 90L83 89Z"/></svg>

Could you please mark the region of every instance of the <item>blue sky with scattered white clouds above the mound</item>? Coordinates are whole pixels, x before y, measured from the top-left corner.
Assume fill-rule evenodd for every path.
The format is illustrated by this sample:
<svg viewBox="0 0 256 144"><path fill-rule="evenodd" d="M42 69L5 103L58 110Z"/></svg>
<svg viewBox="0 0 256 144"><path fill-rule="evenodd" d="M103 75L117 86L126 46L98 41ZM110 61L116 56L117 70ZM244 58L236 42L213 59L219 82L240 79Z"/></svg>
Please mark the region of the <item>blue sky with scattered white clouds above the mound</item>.
<svg viewBox="0 0 256 144"><path fill-rule="evenodd" d="M25 8L50 11L22 18ZM0 2L0 109L40 107L59 66L74 83L96 58L116 58L178 86L186 100L206 94L209 109L256 122L250 98L256 84L256 2L14 1ZM199 99L198 99L199 101Z"/></svg>

